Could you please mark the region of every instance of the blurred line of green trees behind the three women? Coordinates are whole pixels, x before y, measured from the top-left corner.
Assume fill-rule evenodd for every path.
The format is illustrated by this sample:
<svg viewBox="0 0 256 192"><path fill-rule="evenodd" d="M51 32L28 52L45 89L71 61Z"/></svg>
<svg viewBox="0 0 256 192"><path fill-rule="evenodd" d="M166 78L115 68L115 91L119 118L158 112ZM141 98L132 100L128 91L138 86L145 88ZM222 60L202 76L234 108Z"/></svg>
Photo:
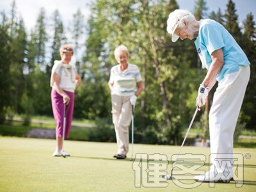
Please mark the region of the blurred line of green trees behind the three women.
<svg viewBox="0 0 256 192"><path fill-rule="evenodd" d="M195 111L199 84L206 70L198 58L193 41L172 43L166 20L179 8L175 0L95 0L90 18L78 9L70 28L61 15L52 13L47 22L41 8L35 28L29 33L17 17L15 0L10 15L1 12L0 24L0 122L6 116L22 114L28 125L32 115L52 116L50 76L54 60L60 60L63 44L74 46L76 68L83 81L76 90L74 118L106 119L111 124L111 98L108 88L111 67L116 65L115 47L124 44L130 51L129 63L140 67L144 91L134 111L134 132L141 143L177 145L181 133ZM196 19L214 19L234 36L251 62L250 83L237 126L256 130L256 31L254 15L248 13L239 26L236 4L227 1L225 10L207 12L207 3L198 0ZM51 33L48 30L51 29ZM84 32L86 31L86 32ZM84 35L87 38L84 39ZM208 129L205 108L196 116L198 129Z"/></svg>

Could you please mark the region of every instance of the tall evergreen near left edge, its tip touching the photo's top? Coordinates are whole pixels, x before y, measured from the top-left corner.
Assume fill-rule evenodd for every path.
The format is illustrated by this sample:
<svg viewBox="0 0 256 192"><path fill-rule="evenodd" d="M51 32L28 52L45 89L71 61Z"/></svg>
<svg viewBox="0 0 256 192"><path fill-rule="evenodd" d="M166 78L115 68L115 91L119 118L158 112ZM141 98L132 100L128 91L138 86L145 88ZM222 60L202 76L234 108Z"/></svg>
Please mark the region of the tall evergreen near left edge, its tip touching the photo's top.
<svg viewBox="0 0 256 192"><path fill-rule="evenodd" d="M12 2L12 12L10 19L10 42L11 62L10 62L10 81L12 82L10 95L13 107L16 113L26 113L28 111L22 98L29 94L27 87L26 74L26 52L27 52L27 35L24 28L24 22L17 17L17 8L15 1ZM28 117L28 116L26 116Z"/></svg>

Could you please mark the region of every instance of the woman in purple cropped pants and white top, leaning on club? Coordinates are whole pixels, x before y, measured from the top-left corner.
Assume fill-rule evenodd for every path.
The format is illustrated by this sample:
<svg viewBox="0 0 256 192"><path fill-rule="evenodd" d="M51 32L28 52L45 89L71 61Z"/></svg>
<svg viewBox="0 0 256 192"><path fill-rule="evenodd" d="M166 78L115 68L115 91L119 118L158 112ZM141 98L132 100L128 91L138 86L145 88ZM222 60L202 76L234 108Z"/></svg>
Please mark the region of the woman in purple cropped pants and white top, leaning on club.
<svg viewBox="0 0 256 192"><path fill-rule="evenodd" d="M74 92L81 83L81 77L77 74L76 68L69 64L73 53L73 48L70 45L63 45L60 47L61 61L54 61L52 67L51 102L53 116L57 124L57 147L52 156L70 156L63 150L63 138L68 138L70 133L74 111ZM63 131L64 116L65 131Z"/></svg>

